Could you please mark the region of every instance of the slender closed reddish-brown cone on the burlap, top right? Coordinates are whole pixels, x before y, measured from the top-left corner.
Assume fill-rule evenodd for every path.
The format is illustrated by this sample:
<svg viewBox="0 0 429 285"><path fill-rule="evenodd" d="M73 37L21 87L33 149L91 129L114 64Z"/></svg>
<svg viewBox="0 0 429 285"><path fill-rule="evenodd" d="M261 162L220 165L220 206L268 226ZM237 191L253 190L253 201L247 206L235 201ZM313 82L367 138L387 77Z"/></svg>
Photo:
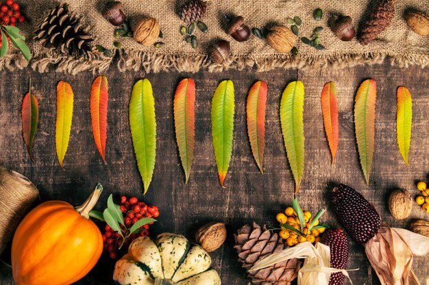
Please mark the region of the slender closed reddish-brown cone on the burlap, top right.
<svg viewBox="0 0 429 285"><path fill-rule="evenodd" d="M365 46L389 26L395 13L395 0L378 0L376 6L369 11L367 21L363 23L358 40Z"/></svg>

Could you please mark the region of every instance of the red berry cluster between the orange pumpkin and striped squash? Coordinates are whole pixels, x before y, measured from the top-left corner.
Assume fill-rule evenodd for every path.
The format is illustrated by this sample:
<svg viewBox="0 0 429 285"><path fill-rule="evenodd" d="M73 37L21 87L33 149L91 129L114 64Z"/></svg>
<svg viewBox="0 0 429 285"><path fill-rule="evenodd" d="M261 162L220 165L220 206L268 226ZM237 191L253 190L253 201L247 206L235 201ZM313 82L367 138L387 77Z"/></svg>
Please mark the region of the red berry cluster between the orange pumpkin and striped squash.
<svg viewBox="0 0 429 285"><path fill-rule="evenodd" d="M138 202L136 197L130 198L127 200L125 196L121 197L121 204L119 206L121 212L123 213L123 221L125 226L121 224L121 229L124 236L127 234L127 229L130 228L134 223L139 219L143 218L157 218L160 215L157 206L147 206L145 202ZM152 223L149 223L152 224ZM138 234L131 234L128 239L125 241L122 240L122 236L119 232L115 232L106 224L103 233L103 249L109 253L110 258L117 258L117 250L121 247L122 243L124 245L129 245L134 239L137 239L138 236L148 236L149 235L149 224L143 225L140 229L142 230Z"/></svg>

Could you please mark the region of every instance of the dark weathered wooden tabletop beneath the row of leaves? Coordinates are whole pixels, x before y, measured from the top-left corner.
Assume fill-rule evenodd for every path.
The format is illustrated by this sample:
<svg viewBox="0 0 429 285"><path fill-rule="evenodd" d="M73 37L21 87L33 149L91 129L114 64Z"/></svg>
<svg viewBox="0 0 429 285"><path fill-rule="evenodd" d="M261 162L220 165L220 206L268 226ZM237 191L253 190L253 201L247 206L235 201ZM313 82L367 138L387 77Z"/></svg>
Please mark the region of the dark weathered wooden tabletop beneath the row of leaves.
<svg viewBox="0 0 429 285"><path fill-rule="evenodd" d="M0 72L0 165L21 172L40 190L42 201L65 200L73 205L84 202L95 183L105 191L97 207L106 205L110 193L136 195L160 208L158 222L151 235L178 232L193 239L195 230L207 221L228 225L225 245L212 253L213 267L225 285L245 285L249 280L237 261L233 233L245 223L256 221L275 226L275 214L293 200L293 177L286 159L281 135L280 97L287 83L301 80L306 88L304 104L305 170L297 197L312 213L329 205L332 182L343 182L362 193L384 221L391 226L407 227L414 219L428 219L417 204L408 219L397 221L389 213L387 198L393 189L408 189L417 195L415 182L425 179L429 169L429 68L397 68L389 63L355 68L324 70L230 70L222 73L187 74L161 72L106 72L109 80L108 139L106 159L101 161L94 144L90 125L89 92L95 75L84 72L77 76L55 72L38 74L29 68L17 72ZM34 94L39 101L39 124L34 140L34 162L30 161L22 138L21 103L32 77ZM133 84L146 77L154 87L157 121L157 155L154 178L147 195L138 173L132 147L128 104ZM175 144L173 96L180 79L193 77L197 85L195 106L195 158L188 185ZM365 184L360 170L354 135L353 108L358 85L372 78L377 82L376 144L370 185ZM219 186L210 131L210 103L217 84L232 79L235 86L236 110L234 144L225 189ZM69 81L75 93L73 124L69 149L60 168L55 148L56 84ZM261 175L252 157L246 127L247 92L257 80L267 81L269 88L266 119L265 175ZM330 151L323 131L320 94L323 84L335 81L338 89L340 141L336 160L331 165ZM396 89L405 85L413 95L413 135L410 165L400 156L396 142ZM330 206L323 222L338 226ZM3 254L3 260L8 260ZM429 277L428 260L415 258L415 269L421 284ZM110 284L113 263L102 256L93 273L78 284ZM362 245L350 241L348 268L354 284L378 284L369 277L369 262ZM375 275L375 274L374 274ZM14 284L10 268L0 264L0 285Z"/></svg>

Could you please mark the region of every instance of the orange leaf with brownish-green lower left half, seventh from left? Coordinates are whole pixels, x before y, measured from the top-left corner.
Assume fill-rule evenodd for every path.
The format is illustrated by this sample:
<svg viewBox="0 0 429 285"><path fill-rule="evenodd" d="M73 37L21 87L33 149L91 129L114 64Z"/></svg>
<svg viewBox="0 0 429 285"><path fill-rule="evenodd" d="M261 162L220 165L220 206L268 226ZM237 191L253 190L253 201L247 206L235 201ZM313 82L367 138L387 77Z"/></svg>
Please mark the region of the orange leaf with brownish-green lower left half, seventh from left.
<svg viewBox="0 0 429 285"><path fill-rule="evenodd" d="M264 174L262 163L265 148L265 107L267 104L267 84L256 82L247 96L247 134L256 164Z"/></svg>

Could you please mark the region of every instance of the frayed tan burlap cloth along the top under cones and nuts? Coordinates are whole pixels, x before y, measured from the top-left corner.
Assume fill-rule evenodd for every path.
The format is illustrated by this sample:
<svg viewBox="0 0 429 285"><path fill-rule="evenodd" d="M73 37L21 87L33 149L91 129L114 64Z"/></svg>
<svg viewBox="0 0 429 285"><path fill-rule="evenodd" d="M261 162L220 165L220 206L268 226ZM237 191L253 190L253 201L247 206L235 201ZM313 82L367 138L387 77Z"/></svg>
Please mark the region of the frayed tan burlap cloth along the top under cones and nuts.
<svg viewBox="0 0 429 285"><path fill-rule="evenodd" d="M114 27L102 16L101 10L108 0L76 0L67 1L71 10L82 15L84 23L93 27L92 33L97 36L95 44L101 44L107 49L115 51L113 46ZM199 45L193 49L180 35L180 27L184 25L177 15L177 11L184 0L122 0L125 14L132 26L145 16L157 18L165 43L161 49L154 46L146 48L134 40L121 38L123 44L121 51L115 51L119 57L117 62L120 70L139 70L145 72L158 72L160 70L179 70L196 72L200 68L210 71L221 71L228 68L242 70L255 68L264 71L273 68L305 68L334 65L337 67L353 66L356 64L376 64L390 57L392 64L408 66L417 64L421 67L429 65L429 37L421 37L408 29L404 21L404 11L407 8L417 8L429 12L428 0L397 0L395 4L395 17L391 25L378 36L377 40L367 46L361 46L357 40L341 42L328 27L328 16L332 12L347 14L353 18L354 26L365 16L371 0L354 1L305 1L305 0L273 0L273 1L240 1L240 0L208 0L208 9L202 21L208 25L208 33L197 31ZM34 57L29 63L34 70L45 72L55 69L57 71L75 73L82 70L106 70L112 59L103 55L93 55L90 58L69 57L56 53L47 53L42 46L31 41L32 31L42 15L49 10L55 1L49 0L22 0L25 13L30 21L21 25L21 29L29 40L29 46L34 51ZM321 8L324 12L321 21L312 18L312 11ZM299 16L302 26L299 27L299 38L310 37L312 30L323 27L321 43L326 51L318 51L297 40L299 55L277 53L267 44L252 36L247 42L236 42L223 31L223 14L237 14L245 18L249 27L263 27L267 24L288 25L286 18ZM289 26L289 25L288 25ZM216 39L230 40L232 56L224 64L212 64L206 57L207 46ZM13 53L0 59L0 69L23 68L27 62L19 55Z"/></svg>

